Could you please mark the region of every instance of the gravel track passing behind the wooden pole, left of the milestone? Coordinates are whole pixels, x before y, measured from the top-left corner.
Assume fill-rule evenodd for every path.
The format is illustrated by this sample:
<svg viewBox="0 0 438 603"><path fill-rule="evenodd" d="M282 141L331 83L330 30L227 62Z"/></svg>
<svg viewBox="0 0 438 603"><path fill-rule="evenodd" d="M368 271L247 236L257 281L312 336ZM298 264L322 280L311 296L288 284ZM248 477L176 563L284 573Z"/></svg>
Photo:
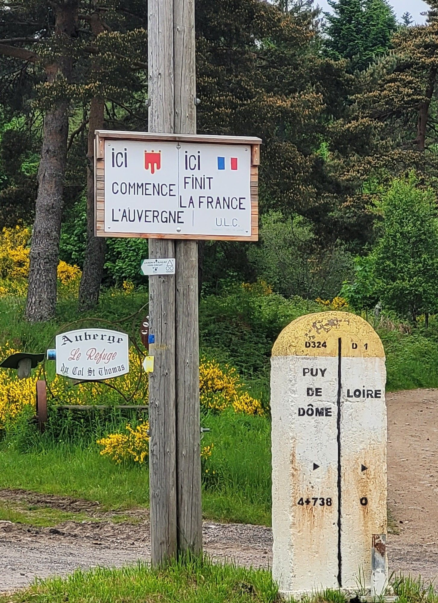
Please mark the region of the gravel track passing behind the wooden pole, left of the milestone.
<svg viewBox="0 0 438 603"><path fill-rule="evenodd" d="M204 549L217 559L268 567L271 529L204 523ZM0 522L0 592L26 586L35 576L63 575L77 567L121 566L149 558L149 522L64 522L56 528L27 528Z"/></svg>

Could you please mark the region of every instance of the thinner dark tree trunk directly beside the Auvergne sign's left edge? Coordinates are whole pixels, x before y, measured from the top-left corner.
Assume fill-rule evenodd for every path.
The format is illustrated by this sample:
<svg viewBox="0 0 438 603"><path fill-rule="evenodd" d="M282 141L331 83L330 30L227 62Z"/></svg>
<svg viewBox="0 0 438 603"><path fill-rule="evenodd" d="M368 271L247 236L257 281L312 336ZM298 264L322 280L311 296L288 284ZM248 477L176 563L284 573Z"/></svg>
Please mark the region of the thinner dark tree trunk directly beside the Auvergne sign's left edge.
<svg viewBox="0 0 438 603"><path fill-rule="evenodd" d="M104 31L99 13L90 18L90 27L95 36ZM98 65L95 65L98 69ZM104 273L105 251L107 243L104 238L95 236L95 183L94 183L94 139L95 130L104 127L104 101L93 98L90 103L90 119L88 124L87 151L87 249L84 259L84 270L79 288L79 309L95 308L99 301L102 276Z"/></svg>

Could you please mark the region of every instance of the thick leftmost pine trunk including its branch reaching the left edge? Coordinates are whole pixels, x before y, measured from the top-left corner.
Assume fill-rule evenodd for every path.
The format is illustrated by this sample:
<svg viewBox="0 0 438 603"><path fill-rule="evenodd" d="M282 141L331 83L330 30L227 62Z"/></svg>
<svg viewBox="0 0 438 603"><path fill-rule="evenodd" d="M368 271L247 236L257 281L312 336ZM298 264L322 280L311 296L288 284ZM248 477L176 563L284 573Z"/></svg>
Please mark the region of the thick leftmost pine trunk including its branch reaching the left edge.
<svg viewBox="0 0 438 603"><path fill-rule="evenodd" d="M18 21L20 17L24 17L27 26L25 28L33 28L34 35L28 38L2 39L0 54L39 65L45 74L45 81L40 86L40 101L45 115L26 308L28 320L40 321L48 320L54 315L56 304L69 127L69 102L64 89L72 77L75 40L78 36L78 0L49 3L48 13L51 14L46 14L50 31L41 29L36 32L37 22L33 23L30 19L32 14L45 16L44 2L26 2L22 7L17 7L17 11L10 12L13 16L8 18L8 21ZM42 31L48 34L47 40L41 40ZM10 43L17 43L17 46ZM19 46L23 43L27 46L38 46L37 52Z"/></svg>

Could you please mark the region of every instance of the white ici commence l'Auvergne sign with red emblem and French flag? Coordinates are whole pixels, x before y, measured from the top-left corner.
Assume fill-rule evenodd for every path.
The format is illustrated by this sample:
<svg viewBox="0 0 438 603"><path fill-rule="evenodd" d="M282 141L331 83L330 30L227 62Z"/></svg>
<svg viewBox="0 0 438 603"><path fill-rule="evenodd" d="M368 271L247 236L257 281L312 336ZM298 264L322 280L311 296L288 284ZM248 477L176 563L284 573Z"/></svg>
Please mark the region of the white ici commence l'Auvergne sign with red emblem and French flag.
<svg viewBox="0 0 438 603"><path fill-rule="evenodd" d="M102 140L105 236L257 238L251 144Z"/></svg>

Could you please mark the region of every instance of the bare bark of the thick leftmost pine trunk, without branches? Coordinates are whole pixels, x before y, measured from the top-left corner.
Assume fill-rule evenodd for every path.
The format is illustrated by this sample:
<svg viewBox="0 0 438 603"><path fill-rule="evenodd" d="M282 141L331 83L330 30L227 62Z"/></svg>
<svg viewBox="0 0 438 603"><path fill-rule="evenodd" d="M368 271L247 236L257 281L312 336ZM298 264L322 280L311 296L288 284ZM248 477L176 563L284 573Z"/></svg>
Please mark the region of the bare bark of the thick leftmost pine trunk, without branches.
<svg viewBox="0 0 438 603"><path fill-rule="evenodd" d="M54 35L61 40L75 37L78 0L63 0L55 6ZM46 64L45 69L49 83L54 83L60 73L69 80L72 59L63 57L55 63ZM69 127L68 108L68 101L63 99L48 110L44 119L26 307L26 318L31 322L49 320L54 316L56 309L57 266Z"/></svg>

